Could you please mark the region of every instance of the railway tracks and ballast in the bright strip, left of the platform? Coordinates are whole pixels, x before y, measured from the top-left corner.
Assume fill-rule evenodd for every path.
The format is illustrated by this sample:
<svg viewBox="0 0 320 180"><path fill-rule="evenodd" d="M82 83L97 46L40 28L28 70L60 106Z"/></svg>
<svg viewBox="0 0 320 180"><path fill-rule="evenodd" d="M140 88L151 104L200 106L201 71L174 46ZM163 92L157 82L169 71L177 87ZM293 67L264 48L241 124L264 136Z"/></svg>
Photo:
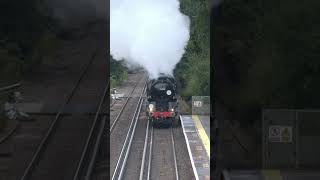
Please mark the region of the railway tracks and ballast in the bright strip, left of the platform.
<svg viewBox="0 0 320 180"><path fill-rule="evenodd" d="M145 89L141 81L139 84L137 87ZM145 107L145 101L140 95L130 98L117 114L120 118L110 130L110 165L102 166L109 165L110 174L94 180L194 179L186 148L178 147L184 143L184 137L177 134L180 131L172 126L153 128L141 107Z"/></svg>

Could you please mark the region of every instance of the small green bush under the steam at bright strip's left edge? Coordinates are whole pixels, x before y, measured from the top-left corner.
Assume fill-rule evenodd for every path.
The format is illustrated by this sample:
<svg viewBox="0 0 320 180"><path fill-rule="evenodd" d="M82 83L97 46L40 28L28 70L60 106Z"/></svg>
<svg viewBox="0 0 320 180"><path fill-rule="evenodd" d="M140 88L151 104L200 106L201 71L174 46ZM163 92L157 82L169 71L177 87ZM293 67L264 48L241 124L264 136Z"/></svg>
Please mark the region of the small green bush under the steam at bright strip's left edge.
<svg viewBox="0 0 320 180"><path fill-rule="evenodd" d="M116 61L110 56L110 87L119 86L128 78L128 69L124 61Z"/></svg>

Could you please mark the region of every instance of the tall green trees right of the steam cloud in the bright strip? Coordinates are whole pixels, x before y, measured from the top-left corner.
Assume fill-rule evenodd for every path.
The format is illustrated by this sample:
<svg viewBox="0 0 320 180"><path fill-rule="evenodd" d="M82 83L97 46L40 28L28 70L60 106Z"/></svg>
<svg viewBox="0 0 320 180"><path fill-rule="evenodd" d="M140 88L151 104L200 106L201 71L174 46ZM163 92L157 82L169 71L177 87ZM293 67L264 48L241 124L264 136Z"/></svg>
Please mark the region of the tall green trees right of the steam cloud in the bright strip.
<svg viewBox="0 0 320 180"><path fill-rule="evenodd" d="M190 40L174 75L183 97L210 95L210 15L208 0L180 0L180 9L189 16Z"/></svg>

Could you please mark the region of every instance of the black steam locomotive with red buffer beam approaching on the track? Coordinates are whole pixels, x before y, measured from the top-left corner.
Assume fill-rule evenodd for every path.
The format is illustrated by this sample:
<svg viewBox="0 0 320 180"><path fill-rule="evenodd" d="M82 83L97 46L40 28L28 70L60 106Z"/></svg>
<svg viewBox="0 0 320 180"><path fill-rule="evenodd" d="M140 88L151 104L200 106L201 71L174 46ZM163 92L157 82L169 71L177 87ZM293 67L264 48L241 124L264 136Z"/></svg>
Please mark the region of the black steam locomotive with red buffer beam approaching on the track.
<svg viewBox="0 0 320 180"><path fill-rule="evenodd" d="M176 81L161 74L147 83L147 117L152 124L180 125Z"/></svg>

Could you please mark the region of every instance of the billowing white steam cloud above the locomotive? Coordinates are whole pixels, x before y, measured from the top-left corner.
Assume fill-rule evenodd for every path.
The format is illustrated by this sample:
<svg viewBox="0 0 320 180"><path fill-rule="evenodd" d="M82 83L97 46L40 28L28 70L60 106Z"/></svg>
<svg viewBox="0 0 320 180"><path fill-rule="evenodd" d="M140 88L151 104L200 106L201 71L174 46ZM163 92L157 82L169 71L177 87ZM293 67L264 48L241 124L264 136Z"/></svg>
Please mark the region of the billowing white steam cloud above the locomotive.
<svg viewBox="0 0 320 180"><path fill-rule="evenodd" d="M178 0L111 0L110 51L143 66L151 78L172 75L189 40L190 20Z"/></svg>

